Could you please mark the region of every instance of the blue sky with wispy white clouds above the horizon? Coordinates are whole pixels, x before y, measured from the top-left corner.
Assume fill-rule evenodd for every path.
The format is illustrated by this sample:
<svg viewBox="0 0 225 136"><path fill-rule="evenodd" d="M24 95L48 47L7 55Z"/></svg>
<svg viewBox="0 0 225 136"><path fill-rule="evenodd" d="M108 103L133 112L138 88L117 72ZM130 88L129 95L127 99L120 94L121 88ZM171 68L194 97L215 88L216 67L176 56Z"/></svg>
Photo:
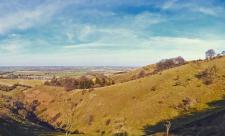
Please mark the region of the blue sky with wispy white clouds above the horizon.
<svg viewBox="0 0 225 136"><path fill-rule="evenodd" d="M225 50L224 0L0 0L0 66L143 66Z"/></svg>

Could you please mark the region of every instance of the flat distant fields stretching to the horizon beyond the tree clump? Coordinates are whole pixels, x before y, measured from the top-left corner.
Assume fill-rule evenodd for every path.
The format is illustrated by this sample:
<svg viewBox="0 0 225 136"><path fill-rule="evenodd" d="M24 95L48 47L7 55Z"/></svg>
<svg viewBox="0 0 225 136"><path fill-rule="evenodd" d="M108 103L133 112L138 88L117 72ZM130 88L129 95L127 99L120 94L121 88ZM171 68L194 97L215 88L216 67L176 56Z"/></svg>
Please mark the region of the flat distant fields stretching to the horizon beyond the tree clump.
<svg viewBox="0 0 225 136"><path fill-rule="evenodd" d="M55 77L80 77L91 73L112 75L132 67L0 67L0 76L7 79L49 80Z"/></svg>

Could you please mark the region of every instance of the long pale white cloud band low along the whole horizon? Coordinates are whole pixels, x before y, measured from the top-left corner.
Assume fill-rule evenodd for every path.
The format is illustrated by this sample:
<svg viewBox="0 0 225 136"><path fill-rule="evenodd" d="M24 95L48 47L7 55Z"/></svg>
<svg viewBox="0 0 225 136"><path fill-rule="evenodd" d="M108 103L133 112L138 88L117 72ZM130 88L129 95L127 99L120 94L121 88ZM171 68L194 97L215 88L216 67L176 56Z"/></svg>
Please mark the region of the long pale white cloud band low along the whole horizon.
<svg viewBox="0 0 225 136"><path fill-rule="evenodd" d="M134 41L137 41L138 44L129 39L124 41L124 44L96 41L67 45L52 53L29 55L23 55L21 52L13 53L13 51L23 51L27 47L26 45L32 43L17 41L19 44L14 44L15 41L7 44L10 45L7 48L0 46L11 51L5 55L7 58L1 54L0 60L2 65L147 65L163 58L176 56L183 56L187 60L204 58L204 52L207 49L213 48L217 52L221 52L225 45L225 40L222 38L149 37L146 39L136 38ZM110 46L113 48L107 48ZM101 50L103 48L104 51ZM117 61L115 62L115 60Z"/></svg>

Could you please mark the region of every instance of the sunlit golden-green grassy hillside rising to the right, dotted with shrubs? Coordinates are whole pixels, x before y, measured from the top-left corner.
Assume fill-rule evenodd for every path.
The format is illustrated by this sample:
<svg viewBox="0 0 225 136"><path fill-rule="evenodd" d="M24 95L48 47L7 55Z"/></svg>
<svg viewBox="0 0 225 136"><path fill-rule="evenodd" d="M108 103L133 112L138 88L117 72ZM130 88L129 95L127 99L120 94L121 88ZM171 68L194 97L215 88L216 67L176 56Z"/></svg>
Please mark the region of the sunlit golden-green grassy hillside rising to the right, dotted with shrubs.
<svg viewBox="0 0 225 136"><path fill-rule="evenodd" d="M94 90L38 86L19 96L26 103L38 101L35 113L55 127L86 135L141 135L146 126L213 109L208 103L225 95L224 67L222 57Z"/></svg>

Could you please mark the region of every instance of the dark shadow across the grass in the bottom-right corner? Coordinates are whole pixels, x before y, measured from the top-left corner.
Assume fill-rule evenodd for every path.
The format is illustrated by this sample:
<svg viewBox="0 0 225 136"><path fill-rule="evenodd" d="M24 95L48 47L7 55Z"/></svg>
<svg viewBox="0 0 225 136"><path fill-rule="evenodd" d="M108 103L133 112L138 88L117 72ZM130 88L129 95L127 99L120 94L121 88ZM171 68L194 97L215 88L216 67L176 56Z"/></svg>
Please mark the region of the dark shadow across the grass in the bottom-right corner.
<svg viewBox="0 0 225 136"><path fill-rule="evenodd" d="M165 132L164 123L170 121L172 134L182 136L224 136L225 135L225 98L208 103L212 109L202 112L193 111L187 115L171 120L163 120L156 125L145 125L144 135L153 135Z"/></svg>

